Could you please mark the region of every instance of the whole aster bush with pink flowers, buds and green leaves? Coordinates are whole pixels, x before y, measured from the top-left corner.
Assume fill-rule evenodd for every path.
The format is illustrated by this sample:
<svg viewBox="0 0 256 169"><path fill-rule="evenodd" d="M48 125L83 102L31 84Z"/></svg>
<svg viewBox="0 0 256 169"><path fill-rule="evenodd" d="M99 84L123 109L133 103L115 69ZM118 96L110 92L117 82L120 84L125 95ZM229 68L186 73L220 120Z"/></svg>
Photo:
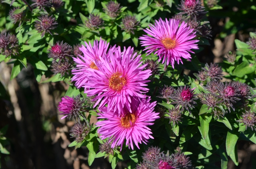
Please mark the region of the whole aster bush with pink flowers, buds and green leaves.
<svg viewBox="0 0 256 169"><path fill-rule="evenodd" d="M199 58L217 36L209 18L227 4L1 4L0 62L11 67L10 80L32 67L38 84L61 91L53 101L61 125L68 124L68 147L86 147L89 166L95 158L105 158L112 169L118 162L127 169L227 169L229 161L239 164L238 141L256 144L256 33L249 32L247 42L234 40L236 51L225 54L221 63ZM240 12L251 18L249 14ZM243 27L235 12L225 15L229 20L219 38L256 26ZM2 83L0 98L11 102ZM54 126L56 118L42 121ZM5 128L0 129L0 152L8 154L4 134Z"/></svg>

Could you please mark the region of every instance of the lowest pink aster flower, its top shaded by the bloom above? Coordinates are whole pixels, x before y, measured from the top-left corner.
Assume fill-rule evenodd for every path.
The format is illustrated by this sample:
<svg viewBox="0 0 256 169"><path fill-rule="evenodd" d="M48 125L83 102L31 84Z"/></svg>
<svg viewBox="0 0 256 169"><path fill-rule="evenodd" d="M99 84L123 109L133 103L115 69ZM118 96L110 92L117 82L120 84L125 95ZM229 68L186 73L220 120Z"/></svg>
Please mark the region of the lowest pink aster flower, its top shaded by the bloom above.
<svg viewBox="0 0 256 169"><path fill-rule="evenodd" d="M101 135L101 139L110 138L113 140L112 148L114 146L123 146L124 139L126 140L125 144L131 146L133 150L133 143L139 148L138 143L142 144L148 142L152 132L147 127L148 125L153 125L153 121L158 119L159 113L155 113L154 107L157 103L150 103L149 98L132 98L131 110L130 113L126 108L121 109L122 113L118 115L117 112L111 110L106 114L106 107L104 107L99 113L100 119L107 118L103 121L98 121L96 123L98 133Z"/></svg>

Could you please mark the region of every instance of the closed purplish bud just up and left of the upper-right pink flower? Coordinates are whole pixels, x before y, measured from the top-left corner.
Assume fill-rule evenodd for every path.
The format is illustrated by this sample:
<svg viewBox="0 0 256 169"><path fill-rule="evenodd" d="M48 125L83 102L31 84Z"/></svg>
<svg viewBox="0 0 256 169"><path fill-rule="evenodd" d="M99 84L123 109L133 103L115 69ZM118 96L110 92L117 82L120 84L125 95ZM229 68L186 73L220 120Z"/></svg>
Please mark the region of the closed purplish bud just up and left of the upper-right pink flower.
<svg viewBox="0 0 256 169"><path fill-rule="evenodd" d="M136 26L139 25L138 20L135 18L135 16L125 16L122 19L121 28L127 33L132 33L134 34L133 30L136 30Z"/></svg>

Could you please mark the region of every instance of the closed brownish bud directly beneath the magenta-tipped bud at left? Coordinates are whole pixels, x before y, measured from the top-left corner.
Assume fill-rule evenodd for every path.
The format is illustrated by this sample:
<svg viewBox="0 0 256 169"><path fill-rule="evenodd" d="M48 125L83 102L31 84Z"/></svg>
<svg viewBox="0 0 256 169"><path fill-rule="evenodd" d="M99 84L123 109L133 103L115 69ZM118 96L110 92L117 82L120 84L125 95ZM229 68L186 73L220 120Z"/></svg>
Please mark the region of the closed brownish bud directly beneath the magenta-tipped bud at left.
<svg viewBox="0 0 256 169"><path fill-rule="evenodd" d="M54 74L60 73L61 76L64 76L65 74L69 74L68 71L71 69L71 64L68 62L52 62L51 65L52 69L51 71Z"/></svg>

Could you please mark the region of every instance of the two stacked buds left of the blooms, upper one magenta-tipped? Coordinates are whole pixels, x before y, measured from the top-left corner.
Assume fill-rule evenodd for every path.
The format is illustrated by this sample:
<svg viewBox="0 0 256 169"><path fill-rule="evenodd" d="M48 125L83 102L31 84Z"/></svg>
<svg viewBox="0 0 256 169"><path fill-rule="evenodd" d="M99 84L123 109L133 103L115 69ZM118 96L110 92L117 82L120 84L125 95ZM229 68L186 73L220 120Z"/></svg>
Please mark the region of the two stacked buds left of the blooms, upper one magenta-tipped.
<svg viewBox="0 0 256 169"><path fill-rule="evenodd" d="M48 53L48 57L53 58L51 71L54 74L60 73L61 76L69 74L68 70L71 69L69 60L72 56L72 47L63 41L58 41L49 49Z"/></svg>

